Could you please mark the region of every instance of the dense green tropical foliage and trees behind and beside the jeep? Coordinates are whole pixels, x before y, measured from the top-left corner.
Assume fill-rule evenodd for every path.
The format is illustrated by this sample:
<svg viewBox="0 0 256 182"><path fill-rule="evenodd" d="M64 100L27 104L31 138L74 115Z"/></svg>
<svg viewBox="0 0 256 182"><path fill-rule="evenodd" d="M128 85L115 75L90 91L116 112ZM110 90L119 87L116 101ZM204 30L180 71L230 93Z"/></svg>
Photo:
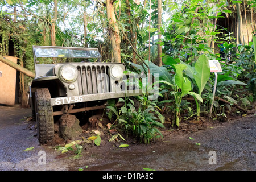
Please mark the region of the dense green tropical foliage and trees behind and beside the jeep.
<svg viewBox="0 0 256 182"><path fill-rule="evenodd" d="M156 128L163 127L164 115L179 127L207 116L212 103L212 119L228 117L232 106L243 107L236 107L238 114L253 109L255 7L252 0L5 0L0 54L17 56L33 71L32 45L97 47L104 61L125 63L129 73L151 73L158 79L147 89L158 90L157 100L146 92L137 98L141 109L126 98L125 107L110 105L108 113L119 129L147 143L162 137ZM208 60L222 67L215 98Z"/></svg>

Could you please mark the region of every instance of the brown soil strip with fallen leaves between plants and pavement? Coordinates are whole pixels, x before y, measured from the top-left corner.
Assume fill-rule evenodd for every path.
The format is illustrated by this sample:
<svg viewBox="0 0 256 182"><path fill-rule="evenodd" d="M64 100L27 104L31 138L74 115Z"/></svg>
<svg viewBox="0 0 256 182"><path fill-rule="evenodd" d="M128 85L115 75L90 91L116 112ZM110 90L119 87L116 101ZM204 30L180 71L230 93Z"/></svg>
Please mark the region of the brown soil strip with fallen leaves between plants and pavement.
<svg viewBox="0 0 256 182"><path fill-rule="evenodd" d="M163 138L152 140L149 146L152 147L154 145L159 145L162 142L175 142L175 140L183 139L185 135L198 133L209 128L214 128L222 125L225 122L231 122L238 118L245 118L234 113L230 114L229 118L225 119L225 122L220 122L217 119L210 119L207 115L202 115L198 121L195 118L191 118L181 121L179 127L174 127L170 122L169 116L165 115L165 117L165 127L159 129L163 134ZM32 123L30 125L34 126L34 122L31 122ZM82 123L84 123L84 121ZM113 147L118 148L123 144L129 145L129 150L132 150L134 146L136 146L137 151L143 151L145 148L145 144L135 140L132 135L127 133L119 133L117 130L112 129L109 119L102 117L102 115L93 115L91 118L89 118L85 125L81 126L81 128L82 134L80 134L79 137L63 139L58 134L56 134L55 141L47 143L47 145L52 147L64 147L70 143L79 143L83 147L83 150L86 152L93 152L94 150L98 150L100 148L101 152L103 153L104 151L108 152L113 150ZM96 144L96 140L92 139L93 136L100 138L100 144ZM73 151L77 150L77 148L75 148L75 144L73 145ZM146 146L148 147L148 145ZM67 152L67 154L60 153L58 156L56 156L56 159L67 158L73 155L73 152Z"/></svg>

